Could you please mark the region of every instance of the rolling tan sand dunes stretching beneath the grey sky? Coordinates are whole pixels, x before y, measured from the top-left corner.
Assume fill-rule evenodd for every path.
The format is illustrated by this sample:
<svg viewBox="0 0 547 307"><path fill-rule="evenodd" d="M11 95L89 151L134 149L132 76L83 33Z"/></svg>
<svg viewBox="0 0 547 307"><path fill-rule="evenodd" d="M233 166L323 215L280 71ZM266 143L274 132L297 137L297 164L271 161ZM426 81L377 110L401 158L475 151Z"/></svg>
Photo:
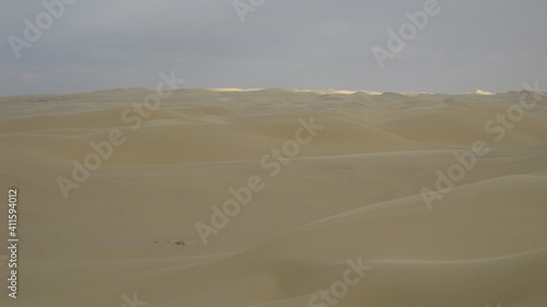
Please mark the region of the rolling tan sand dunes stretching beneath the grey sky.
<svg viewBox="0 0 547 307"><path fill-rule="evenodd" d="M2 306L547 306L545 93L153 93L0 98Z"/></svg>

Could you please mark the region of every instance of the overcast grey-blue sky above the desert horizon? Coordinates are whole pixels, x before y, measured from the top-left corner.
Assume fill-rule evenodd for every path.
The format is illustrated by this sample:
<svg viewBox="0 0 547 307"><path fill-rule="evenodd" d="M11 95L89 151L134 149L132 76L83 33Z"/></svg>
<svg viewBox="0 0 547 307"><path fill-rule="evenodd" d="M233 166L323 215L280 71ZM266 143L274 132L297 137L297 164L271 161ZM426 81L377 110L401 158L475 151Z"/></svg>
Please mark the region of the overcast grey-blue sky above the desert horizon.
<svg viewBox="0 0 547 307"><path fill-rule="evenodd" d="M173 70L188 88L547 87L545 0L237 1L65 0L48 17L43 1L0 0L0 96L153 88Z"/></svg>

